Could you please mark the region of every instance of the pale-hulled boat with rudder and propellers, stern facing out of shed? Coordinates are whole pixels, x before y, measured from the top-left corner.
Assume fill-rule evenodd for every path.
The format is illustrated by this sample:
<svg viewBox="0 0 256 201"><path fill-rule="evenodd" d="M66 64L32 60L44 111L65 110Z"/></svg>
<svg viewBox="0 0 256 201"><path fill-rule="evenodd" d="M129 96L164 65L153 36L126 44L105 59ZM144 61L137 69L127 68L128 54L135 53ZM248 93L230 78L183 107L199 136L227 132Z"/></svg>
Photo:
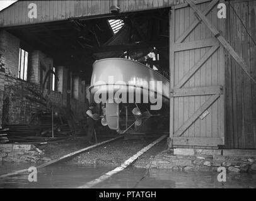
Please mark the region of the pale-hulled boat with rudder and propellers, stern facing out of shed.
<svg viewBox="0 0 256 201"><path fill-rule="evenodd" d="M105 108L102 122L118 133L142 128L153 117L161 120L169 111L169 80L134 60L96 60L89 90L94 102Z"/></svg>

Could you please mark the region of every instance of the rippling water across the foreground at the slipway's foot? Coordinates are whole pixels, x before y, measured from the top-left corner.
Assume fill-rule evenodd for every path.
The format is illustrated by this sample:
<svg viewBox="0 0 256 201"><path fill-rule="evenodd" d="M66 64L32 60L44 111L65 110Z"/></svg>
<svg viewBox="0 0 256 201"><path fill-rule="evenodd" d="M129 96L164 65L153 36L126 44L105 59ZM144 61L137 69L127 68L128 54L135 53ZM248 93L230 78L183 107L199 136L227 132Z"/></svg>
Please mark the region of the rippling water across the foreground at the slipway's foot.
<svg viewBox="0 0 256 201"><path fill-rule="evenodd" d="M8 167L8 165L4 165ZM2 166L3 167L3 166ZM21 166L17 166L21 168ZM38 170L37 182L28 182L28 173L0 178L0 188L77 188L100 177L110 166L84 166L62 163ZM19 170L19 169L18 169ZM3 171L3 170L2 170ZM129 167L94 188L255 188L255 174L228 173L218 182L218 173L185 172Z"/></svg>

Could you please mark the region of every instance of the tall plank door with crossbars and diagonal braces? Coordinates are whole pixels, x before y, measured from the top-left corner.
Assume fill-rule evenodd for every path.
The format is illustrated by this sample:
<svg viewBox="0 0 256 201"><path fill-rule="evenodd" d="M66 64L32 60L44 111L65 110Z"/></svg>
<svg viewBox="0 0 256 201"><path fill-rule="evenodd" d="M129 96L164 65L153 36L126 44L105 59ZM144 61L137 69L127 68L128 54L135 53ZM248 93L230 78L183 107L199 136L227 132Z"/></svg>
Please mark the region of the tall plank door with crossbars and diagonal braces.
<svg viewBox="0 0 256 201"><path fill-rule="evenodd" d="M219 31L217 0L197 4ZM170 14L170 139L173 147L224 144L224 49L190 6Z"/></svg>

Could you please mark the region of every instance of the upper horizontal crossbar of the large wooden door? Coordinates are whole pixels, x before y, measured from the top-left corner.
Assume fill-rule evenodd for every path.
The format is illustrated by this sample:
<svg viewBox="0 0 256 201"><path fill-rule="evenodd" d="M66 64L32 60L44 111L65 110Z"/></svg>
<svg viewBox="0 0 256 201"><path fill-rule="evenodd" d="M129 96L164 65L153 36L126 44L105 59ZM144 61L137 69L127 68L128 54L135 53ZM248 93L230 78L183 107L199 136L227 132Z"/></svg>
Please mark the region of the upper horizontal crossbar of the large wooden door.
<svg viewBox="0 0 256 201"><path fill-rule="evenodd" d="M175 52L183 50L193 50L197 48L206 48L208 46L218 45L219 42L216 38L209 38L205 40L189 41L187 43L175 43L173 45L173 50Z"/></svg>

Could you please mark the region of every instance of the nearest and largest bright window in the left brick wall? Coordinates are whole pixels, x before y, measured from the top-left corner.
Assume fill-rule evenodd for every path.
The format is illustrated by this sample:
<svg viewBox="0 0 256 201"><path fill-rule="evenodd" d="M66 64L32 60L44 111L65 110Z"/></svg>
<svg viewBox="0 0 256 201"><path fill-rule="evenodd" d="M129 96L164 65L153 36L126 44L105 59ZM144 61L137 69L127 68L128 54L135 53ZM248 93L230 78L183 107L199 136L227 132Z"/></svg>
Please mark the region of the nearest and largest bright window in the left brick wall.
<svg viewBox="0 0 256 201"><path fill-rule="evenodd" d="M28 52L20 48L18 78L22 80L26 80L27 74L28 74Z"/></svg>

